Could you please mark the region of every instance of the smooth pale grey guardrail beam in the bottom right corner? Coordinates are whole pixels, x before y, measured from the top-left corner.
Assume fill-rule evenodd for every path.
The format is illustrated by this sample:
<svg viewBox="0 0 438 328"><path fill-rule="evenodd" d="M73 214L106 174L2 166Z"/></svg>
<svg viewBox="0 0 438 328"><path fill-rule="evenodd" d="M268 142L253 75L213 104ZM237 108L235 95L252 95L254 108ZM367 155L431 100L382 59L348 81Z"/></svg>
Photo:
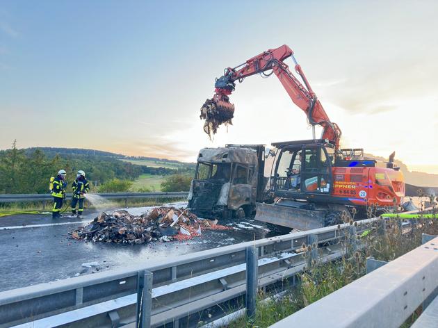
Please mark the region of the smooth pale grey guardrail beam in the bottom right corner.
<svg viewBox="0 0 438 328"><path fill-rule="evenodd" d="M400 327L430 295L435 297L437 272L435 238L270 327ZM428 313L437 309L435 301ZM438 327L438 318L428 327Z"/></svg>

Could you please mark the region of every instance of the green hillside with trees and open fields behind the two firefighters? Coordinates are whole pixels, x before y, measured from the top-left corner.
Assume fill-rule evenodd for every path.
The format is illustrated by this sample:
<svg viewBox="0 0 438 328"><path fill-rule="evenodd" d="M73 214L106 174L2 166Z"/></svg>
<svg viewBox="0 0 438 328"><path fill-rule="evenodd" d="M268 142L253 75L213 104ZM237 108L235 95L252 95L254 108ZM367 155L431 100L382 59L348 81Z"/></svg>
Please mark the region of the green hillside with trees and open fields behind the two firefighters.
<svg viewBox="0 0 438 328"><path fill-rule="evenodd" d="M160 191L161 183L174 174L193 177L195 165L153 159L125 161L122 155L90 149L18 149L14 141L10 149L0 151L0 194L47 193L50 177L61 168L67 171L67 192L71 192L77 170L86 172L91 192L146 192Z"/></svg>

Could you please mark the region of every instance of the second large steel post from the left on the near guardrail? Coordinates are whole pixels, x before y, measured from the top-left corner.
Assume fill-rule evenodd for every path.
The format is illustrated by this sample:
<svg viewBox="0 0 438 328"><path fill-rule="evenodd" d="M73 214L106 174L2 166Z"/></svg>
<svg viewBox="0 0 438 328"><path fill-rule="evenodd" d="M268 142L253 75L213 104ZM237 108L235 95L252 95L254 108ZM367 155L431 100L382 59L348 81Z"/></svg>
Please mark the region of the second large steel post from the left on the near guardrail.
<svg viewBox="0 0 438 328"><path fill-rule="evenodd" d="M259 256L255 245L246 247L246 297L245 306L248 317L256 311L257 279L259 278Z"/></svg>

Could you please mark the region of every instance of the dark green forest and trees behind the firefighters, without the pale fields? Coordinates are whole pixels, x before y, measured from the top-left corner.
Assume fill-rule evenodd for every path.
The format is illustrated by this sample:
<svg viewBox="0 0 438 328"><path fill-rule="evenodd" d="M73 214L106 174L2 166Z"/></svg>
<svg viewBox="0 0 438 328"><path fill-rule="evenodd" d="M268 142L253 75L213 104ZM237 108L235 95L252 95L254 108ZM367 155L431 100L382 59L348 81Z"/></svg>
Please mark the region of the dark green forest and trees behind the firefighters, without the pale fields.
<svg viewBox="0 0 438 328"><path fill-rule="evenodd" d="M16 141L10 149L0 151L0 193L45 193L49 192L49 179L56 177L58 170L67 172L69 187L76 178L76 172L83 170L95 191L111 181L133 181L140 174L177 174L178 170L165 167L147 167L120 161L109 156L86 154L69 155L51 152L49 155L39 148L17 149ZM129 183L124 183L129 186ZM97 188L96 188L97 187Z"/></svg>

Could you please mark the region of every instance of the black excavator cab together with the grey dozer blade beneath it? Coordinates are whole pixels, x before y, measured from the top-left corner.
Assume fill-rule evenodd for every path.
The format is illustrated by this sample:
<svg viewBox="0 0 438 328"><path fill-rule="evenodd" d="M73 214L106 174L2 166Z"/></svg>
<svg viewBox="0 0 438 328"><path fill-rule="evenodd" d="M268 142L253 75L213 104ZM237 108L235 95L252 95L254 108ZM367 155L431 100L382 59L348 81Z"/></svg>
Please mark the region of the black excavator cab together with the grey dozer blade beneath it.
<svg viewBox="0 0 438 328"><path fill-rule="evenodd" d="M277 148L270 177L274 204L257 203L256 220L300 230L327 226L326 208L316 202L332 197L335 147L324 139L273 143Z"/></svg>

